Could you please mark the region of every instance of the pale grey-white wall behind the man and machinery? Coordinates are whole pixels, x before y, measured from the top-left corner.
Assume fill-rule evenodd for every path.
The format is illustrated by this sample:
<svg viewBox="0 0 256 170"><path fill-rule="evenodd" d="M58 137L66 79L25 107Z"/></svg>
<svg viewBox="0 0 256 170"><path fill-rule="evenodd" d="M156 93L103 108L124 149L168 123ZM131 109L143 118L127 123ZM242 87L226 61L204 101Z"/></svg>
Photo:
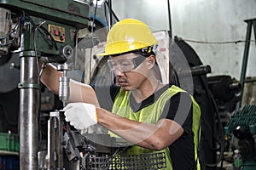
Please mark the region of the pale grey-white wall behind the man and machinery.
<svg viewBox="0 0 256 170"><path fill-rule="evenodd" d="M169 30L167 0L113 0L119 19L143 20L154 30ZM240 79L247 24L256 19L256 0L170 0L172 35L189 42L204 65L211 65L212 75L230 75ZM254 34L252 33L252 40ZM256 48L251 42L247 77L256 76Z"/></svg>

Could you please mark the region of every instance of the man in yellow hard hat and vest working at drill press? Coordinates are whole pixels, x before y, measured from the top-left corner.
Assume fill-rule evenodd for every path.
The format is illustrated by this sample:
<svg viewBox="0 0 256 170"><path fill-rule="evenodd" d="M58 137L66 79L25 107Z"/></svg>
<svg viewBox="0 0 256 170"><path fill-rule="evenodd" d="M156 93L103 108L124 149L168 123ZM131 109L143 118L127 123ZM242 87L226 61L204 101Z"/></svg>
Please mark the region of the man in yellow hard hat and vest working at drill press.
<svg viewBox="0 0 256 170"><path fill-rule="evenodd" d="M104 53L98 54L108 57L114 83L94 87L71 80L66 119L77 129L98 123L131 142L125 155L164 153L165 165L159 169L200 169L200 107L183 89L160 82L156 47L156 38L142 21L117 22L108 32ZM59 77L47 65L41 81L58 94Z"/></svg>

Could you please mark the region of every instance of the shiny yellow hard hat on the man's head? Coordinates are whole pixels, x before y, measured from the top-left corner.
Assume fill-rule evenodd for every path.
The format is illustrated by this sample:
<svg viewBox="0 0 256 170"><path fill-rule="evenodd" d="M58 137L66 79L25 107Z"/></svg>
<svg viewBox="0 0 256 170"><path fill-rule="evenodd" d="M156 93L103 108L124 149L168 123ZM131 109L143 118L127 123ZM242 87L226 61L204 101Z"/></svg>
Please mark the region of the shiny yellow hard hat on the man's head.
<svg viewBox="0 0 256 170"><path fill-rule="evenodd" d="M137 49L151 47L157 43L152 31L140 20L124 19L108 32L105 53L99 56L123 54Z"/></svg>

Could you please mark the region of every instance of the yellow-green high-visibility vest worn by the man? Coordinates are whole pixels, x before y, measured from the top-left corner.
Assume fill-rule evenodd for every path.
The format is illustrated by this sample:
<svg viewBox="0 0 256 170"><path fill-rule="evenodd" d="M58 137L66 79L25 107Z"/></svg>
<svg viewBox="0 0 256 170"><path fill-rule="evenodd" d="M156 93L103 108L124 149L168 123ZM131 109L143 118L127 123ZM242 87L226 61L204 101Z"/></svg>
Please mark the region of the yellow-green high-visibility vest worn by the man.
<svg viewBox="0 0 256 170"><path fill-rule="evenodd" d="M114 99L113 109L112 112L116 115L123 116L127 119L137 121L137 122L147 122L151 124L156 124L159 121L159 118L164 110L164 106L166 102L172 98L174 94L179 92L185 92L181 88L177 88L176 86L172 85L171 88L166 89L166 91L160 95L160 98L154 101L152 105L148 105L147 107L143 108L140 111L134 112L131 110L130 107L130 91L125 91L122 88L119 89L119 93L117 94L116 98ZM192 131L194 132L194 143L195 143L195 162L197 164L197 169L200 169L200 164L197 156L197 148L199 144L200 138L200 119L201 119L201 109L199 105L195 102L195 99L191 96L193 102L193 123L192 123ZM111 136L119 138L116 134L111 133ZM127 131L128 133L128 131ZM154 132L152 132L154 133ZM166 155L166 170L172 169L172 160L169 154L169 149L166 147L164 150L149 150L143 147L132 145L130 149L125 150L125 155L140 155L143 153L160 153L165 152Z"/></svg>

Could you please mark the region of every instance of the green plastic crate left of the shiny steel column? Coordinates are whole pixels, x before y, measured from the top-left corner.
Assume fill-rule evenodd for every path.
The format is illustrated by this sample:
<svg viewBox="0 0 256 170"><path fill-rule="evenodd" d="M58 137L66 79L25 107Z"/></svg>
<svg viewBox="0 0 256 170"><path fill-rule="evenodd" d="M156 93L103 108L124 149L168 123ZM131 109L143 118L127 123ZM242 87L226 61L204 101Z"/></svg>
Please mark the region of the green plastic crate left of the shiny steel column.
<svg viewBox="0 0 256 170"><path fill-rule="evenodd" d="M0 133L0 150L19 152L19 135L16 133Z"/></svg>

